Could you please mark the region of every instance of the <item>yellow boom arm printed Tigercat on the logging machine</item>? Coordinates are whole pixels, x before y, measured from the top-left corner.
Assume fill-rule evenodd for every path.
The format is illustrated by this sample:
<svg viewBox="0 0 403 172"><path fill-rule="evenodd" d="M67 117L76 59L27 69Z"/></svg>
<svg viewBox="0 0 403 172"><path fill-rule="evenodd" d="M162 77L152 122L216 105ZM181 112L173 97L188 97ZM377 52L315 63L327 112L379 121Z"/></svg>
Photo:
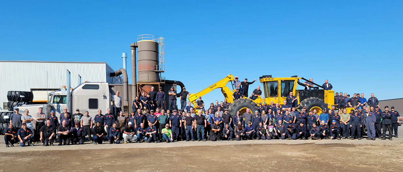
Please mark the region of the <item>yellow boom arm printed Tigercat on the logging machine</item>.
<svg viewBox="0 0 403 172"><path fill-rule="evenodd" d="M221 88L221 92L224 95L224 97L227 99L227 101L229 103L233 103L233 98L232 98L233 91L231 91L231 89L229 89L229 87L226 86L226 84L229 81L234 81L234 77L233 77L232 74L230 74L227 77L221 79L220 81L210 85L210 87L207 87L207 88L203 89L200 92L197 92L195 94L189 95L189 101L195 107L197 107L196 106L196 101L197 101L197 99L199 99L200 96L203 96L203 95L205 95L207 93L210 93L210 91L213 91L214 89ZM210 107L210 106L208 106L208 107Z"/></svg>

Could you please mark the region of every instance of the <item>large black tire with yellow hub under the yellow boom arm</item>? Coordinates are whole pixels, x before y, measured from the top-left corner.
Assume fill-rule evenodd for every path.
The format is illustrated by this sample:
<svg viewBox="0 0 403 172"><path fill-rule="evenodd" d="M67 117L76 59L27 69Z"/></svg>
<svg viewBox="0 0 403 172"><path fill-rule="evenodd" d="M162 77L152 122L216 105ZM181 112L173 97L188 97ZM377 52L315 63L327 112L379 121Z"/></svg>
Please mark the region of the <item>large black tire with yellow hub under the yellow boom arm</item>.
<svg viewBox="0 0 403 172"><path fill-rule="evenodd" d="M246 109L249 108L251 113L254 114L256 110L258 110L258 105L253 102L251 99L237 99L231 105L229 105L228 113L231 115L237 115L237 111L240 111L240 114L246 112Z"/></svg>

